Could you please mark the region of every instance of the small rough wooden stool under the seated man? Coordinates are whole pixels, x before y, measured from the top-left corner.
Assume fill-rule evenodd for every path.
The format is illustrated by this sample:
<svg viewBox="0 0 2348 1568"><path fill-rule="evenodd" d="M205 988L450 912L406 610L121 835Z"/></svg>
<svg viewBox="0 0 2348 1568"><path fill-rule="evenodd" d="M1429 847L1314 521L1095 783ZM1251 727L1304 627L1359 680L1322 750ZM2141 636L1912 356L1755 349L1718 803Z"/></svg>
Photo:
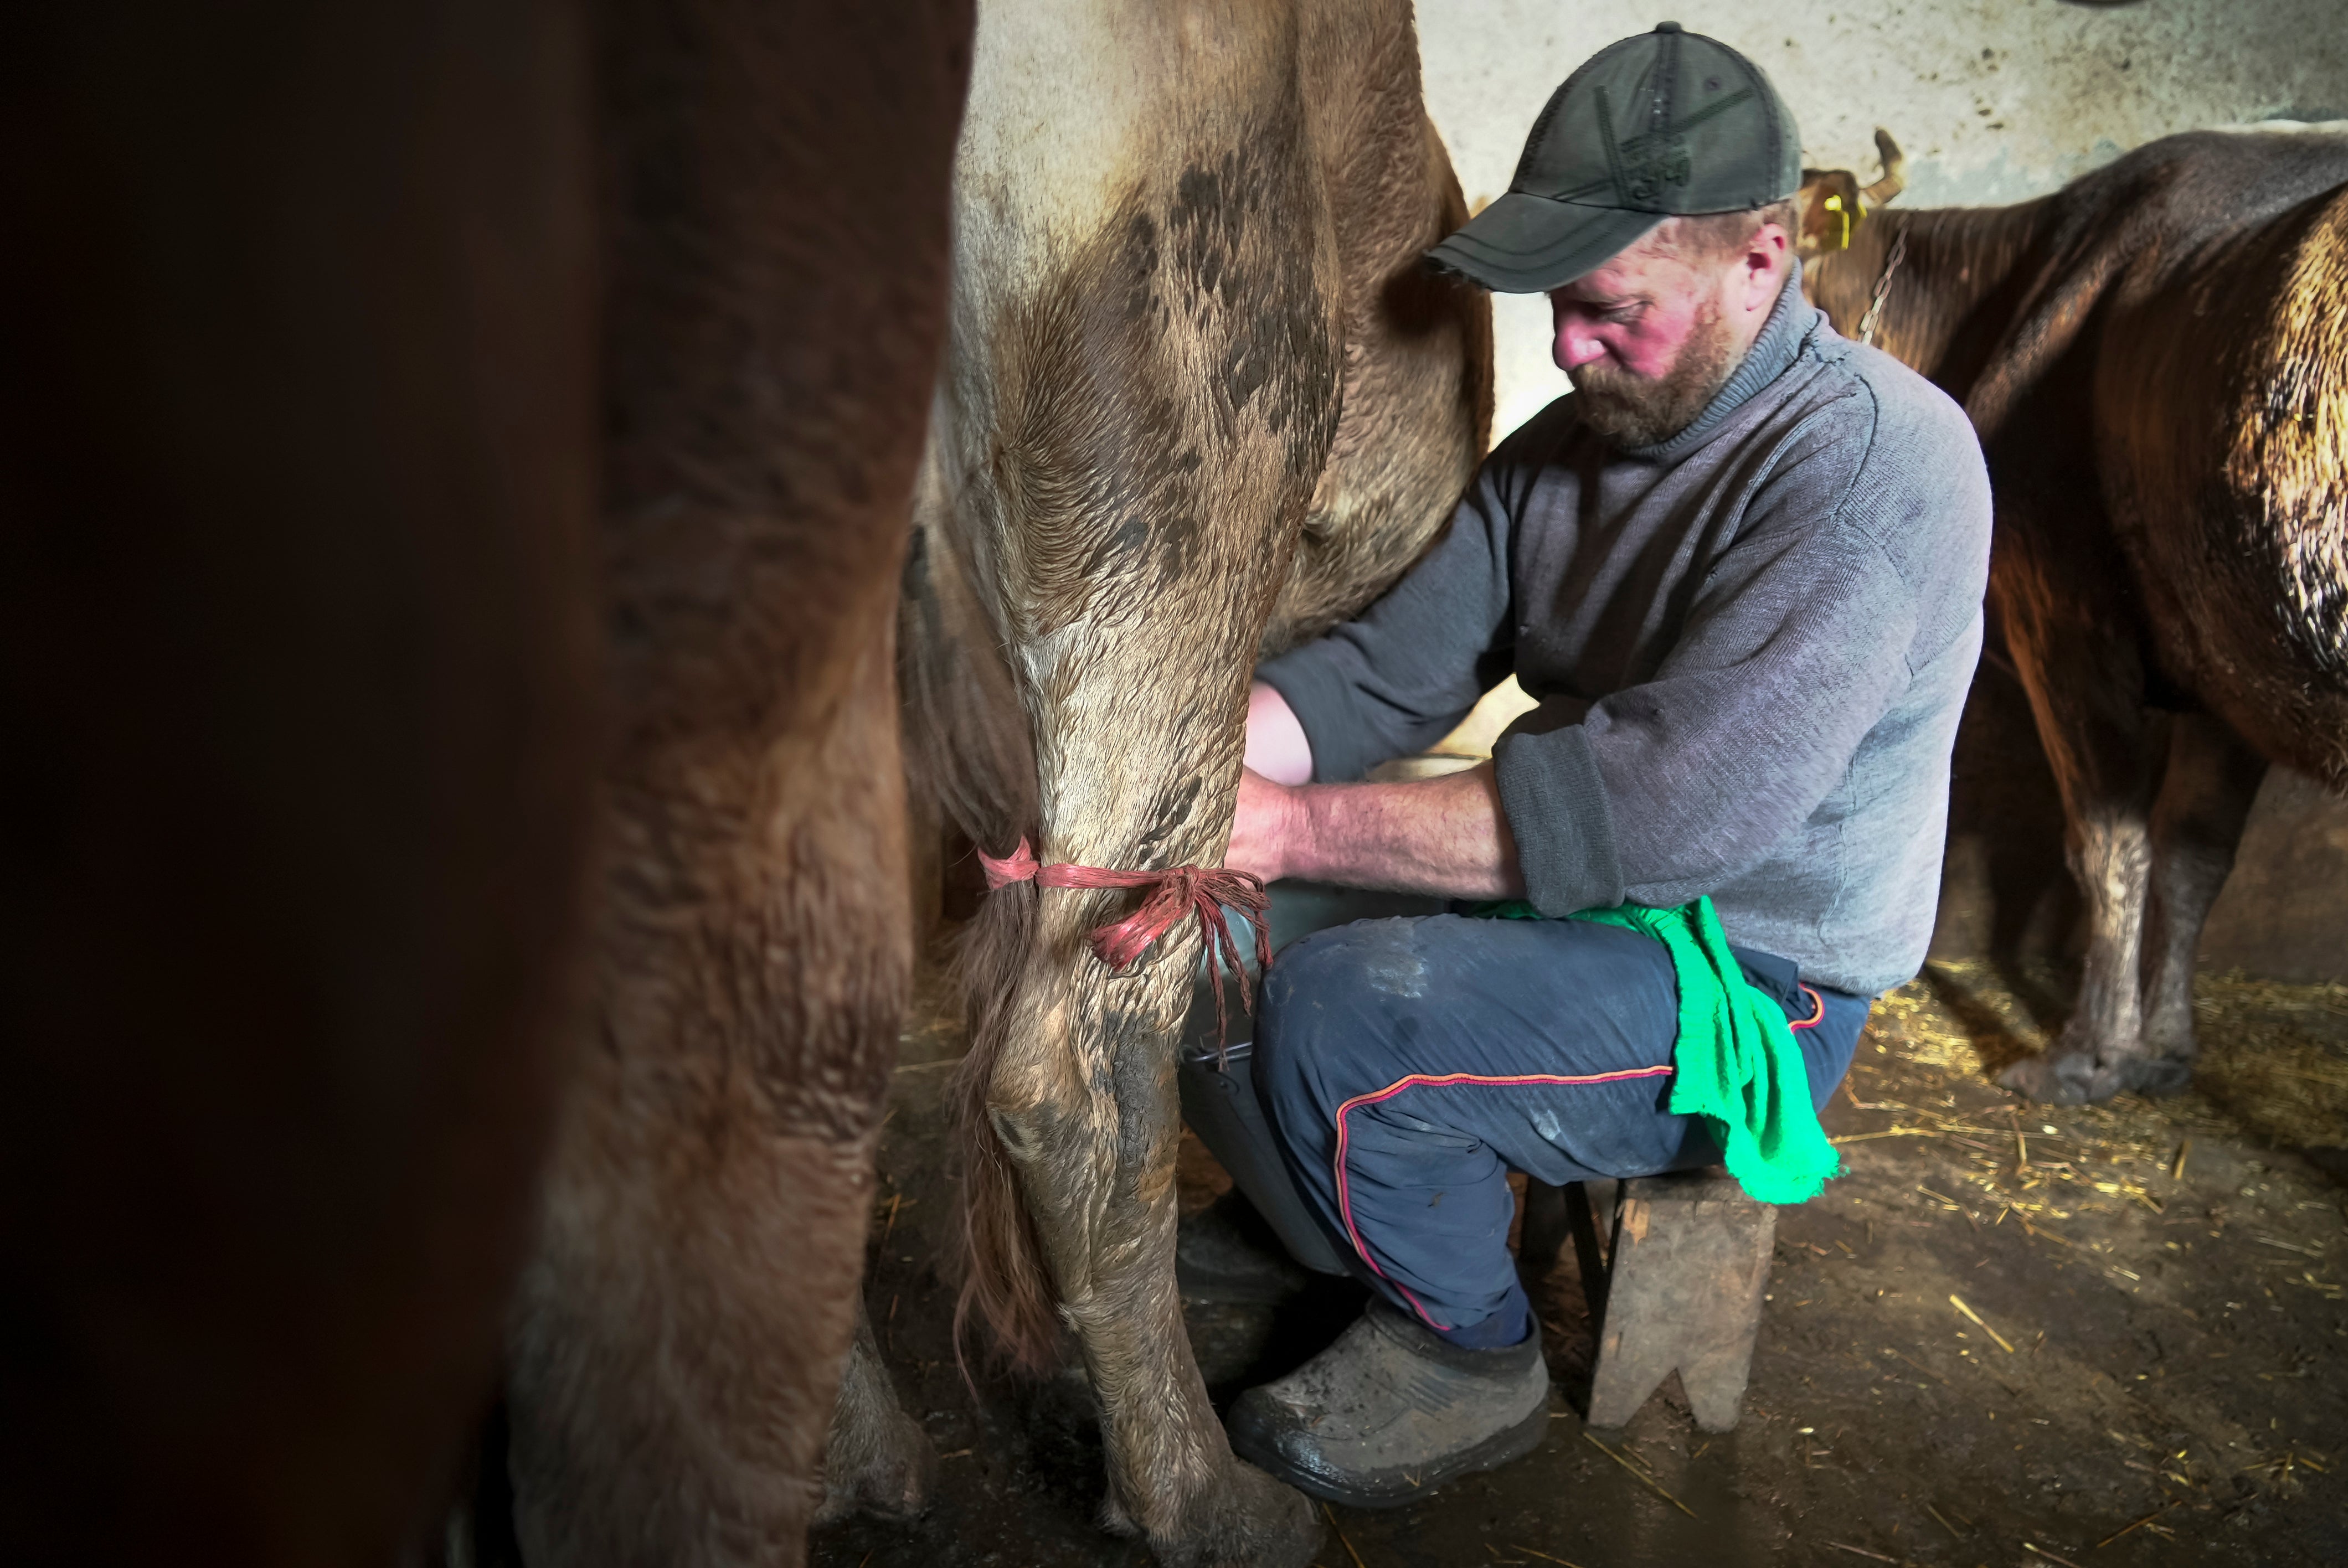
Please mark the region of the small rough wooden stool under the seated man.
<svg viewBox="0 0 2348 1568"><path fill-rule="evenodd" d="M1592 1197L1613 1207L1604 1251ZM1590 1425L1625 1425L1679 1371L1695 1425L1733 1430L1761 1333L1777 1211L1745 1197L1719 1167L1568 1188L1529 1183L1524 1256L1554 1261L1566 1232L1599 1340Z"/></svg>

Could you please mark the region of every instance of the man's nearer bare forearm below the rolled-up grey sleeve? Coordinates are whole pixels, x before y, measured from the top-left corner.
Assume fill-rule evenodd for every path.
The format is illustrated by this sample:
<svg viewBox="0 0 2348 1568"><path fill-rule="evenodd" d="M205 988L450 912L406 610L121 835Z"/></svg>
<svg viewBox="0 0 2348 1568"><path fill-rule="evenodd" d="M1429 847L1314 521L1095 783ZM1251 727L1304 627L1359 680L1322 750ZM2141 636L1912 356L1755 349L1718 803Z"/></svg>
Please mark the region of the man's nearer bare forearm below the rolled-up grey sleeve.
<svg viewBox="0 0 2348 1568"><path fill-rule="evenodd" d="M1289 791L1282 873L1453 899L1524 894L1491 763L1406 784Z"/></svg>

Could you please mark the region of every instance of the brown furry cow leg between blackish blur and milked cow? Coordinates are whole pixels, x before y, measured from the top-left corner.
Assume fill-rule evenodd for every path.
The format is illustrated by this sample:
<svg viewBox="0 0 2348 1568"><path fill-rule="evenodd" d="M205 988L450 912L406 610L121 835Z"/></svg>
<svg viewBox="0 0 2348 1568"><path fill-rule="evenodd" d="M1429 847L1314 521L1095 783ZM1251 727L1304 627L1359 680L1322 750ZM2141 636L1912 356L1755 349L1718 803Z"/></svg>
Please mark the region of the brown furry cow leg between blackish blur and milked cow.
<svg viewBox="0 0 2348 1568"><path fill-rule="evenodd" d="M911 932L892 622L960 0L610 0L596 1012L512 1331L533 1568L798 1563Z"/></svg>

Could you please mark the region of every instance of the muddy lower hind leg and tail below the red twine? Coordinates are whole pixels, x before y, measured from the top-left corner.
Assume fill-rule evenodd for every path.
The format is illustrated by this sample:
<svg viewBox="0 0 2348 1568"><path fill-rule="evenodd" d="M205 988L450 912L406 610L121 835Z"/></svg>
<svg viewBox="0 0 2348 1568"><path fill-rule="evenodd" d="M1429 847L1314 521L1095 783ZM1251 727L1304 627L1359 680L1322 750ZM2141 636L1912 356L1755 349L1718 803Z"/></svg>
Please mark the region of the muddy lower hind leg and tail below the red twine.
<svg viewBox="0 0 2348 1568"><path fill-rule="evenodd" d="M1216 791L1197 815L1228 810ZM1101 1401L1108 1530L1146 1535L1169 1568L1303 1568L1320 1519L1230 1453L1174 1289L1174 1047L1200 944L1176 930L1111 974L1085 932L1127 904L1012 885L979 913L963 1084L972 1293L1031 1371L1075 1331Z"/></svg>

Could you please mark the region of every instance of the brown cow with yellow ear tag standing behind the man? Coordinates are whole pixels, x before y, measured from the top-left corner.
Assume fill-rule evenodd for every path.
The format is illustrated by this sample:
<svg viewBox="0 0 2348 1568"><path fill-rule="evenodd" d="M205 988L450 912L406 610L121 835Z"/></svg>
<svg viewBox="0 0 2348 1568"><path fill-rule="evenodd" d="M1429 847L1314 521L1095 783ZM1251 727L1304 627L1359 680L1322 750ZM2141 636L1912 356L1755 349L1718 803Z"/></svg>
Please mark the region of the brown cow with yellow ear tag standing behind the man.
<svg viewBox="0 0 2348 1568"><path fill-rule="evenodd" d="M1883 214L1806 275L1965 404L1991 603L2087 897L2078 1009L2003 1082L2191 1080L2193 955L2268 761L2348 789L2348 127L2193 131L2019 207Z"/></svg>

